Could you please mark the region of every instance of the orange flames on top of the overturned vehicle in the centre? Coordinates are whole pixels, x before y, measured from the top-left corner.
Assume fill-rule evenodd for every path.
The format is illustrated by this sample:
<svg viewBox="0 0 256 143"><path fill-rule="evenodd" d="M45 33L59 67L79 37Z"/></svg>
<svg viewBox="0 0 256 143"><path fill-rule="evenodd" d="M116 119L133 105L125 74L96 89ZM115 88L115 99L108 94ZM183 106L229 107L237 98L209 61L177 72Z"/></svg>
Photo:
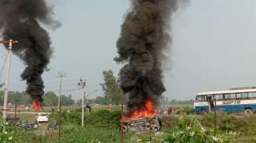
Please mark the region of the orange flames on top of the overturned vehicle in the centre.
<svg viewBox="0 0 256 143"><path fill-rule="evenodd" d="M157 115L154 103L149 98L141 109L133 110L130 115L124 115L122 121L132 120L137 118L147 118Z"/></svg>

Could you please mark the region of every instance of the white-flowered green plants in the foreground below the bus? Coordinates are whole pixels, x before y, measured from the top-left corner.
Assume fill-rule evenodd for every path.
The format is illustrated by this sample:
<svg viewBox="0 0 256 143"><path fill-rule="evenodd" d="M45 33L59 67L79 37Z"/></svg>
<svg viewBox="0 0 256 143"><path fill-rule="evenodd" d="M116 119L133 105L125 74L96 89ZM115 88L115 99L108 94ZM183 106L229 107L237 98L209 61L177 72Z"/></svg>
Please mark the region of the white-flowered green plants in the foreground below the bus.
<svg viewBox="0 0 256 143"><path fill-rule="evenodd" d="M168 136L164 142L206 142L206 143L233 143L237 142L237 132L222 132L220 130L206 129L201 122L195 119L180 118L174 130L167 132Z"/></svg>

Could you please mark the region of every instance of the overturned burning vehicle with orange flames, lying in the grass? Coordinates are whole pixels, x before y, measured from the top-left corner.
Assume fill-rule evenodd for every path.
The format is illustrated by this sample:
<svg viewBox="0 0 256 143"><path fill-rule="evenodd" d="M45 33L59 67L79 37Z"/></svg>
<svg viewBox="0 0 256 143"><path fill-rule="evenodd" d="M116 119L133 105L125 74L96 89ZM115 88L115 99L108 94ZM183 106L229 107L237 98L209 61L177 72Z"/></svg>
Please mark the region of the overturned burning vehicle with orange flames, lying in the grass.
<svg viewBox="0 0 256 143"><path fill-rule="evenodd" d="M121 132L157 132L161 129L161 119L157 116L154 105L148 100L140 110L133 110L132 114L122 117Z"/></svg>

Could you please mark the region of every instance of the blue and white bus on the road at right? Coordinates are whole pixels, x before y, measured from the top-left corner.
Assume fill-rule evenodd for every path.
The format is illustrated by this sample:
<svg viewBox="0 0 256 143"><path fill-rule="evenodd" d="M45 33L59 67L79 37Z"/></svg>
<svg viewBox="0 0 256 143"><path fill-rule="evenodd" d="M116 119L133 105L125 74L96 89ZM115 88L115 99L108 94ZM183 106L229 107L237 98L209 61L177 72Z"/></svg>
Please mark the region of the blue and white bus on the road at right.
<svg viewBox="0 0 256 143"><path fill-rule="evenodd" d="M210 113L222 110L225 113L246 113L256 112L256 88L233 89L229 91L211 91L197 93L194 102L195 113Z"/></svg>

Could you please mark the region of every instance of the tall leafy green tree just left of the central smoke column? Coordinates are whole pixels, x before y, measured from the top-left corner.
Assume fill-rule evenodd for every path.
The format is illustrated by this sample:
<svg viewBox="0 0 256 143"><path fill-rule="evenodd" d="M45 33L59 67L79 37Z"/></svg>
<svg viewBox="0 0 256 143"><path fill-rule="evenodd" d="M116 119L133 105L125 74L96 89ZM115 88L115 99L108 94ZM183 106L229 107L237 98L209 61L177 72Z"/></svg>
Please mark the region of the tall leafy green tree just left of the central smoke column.
<svg viewBox="0 0 256 143"><path fill-rule="evenodd" d="M112 70L103 71L102 74L104 83L100 84L100 86L102 86L105 100L107 103L118 105L124 97L119 87L119 80L114 76Z"/></svg>

